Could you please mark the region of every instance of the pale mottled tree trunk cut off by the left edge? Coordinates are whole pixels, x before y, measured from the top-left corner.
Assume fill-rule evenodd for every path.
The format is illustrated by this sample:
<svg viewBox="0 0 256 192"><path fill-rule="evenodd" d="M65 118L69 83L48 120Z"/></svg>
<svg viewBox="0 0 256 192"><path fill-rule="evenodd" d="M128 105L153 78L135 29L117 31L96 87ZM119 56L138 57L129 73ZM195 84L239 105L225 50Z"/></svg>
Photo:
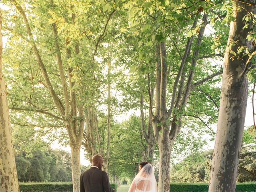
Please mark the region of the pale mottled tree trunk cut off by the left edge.
<svg viewBox="0 0 256 192"><path fill-rule="evenodd" d="M0 11L0 191L18 192L18 176L10 130L9 108L2 72L2 13Z"/></svg>

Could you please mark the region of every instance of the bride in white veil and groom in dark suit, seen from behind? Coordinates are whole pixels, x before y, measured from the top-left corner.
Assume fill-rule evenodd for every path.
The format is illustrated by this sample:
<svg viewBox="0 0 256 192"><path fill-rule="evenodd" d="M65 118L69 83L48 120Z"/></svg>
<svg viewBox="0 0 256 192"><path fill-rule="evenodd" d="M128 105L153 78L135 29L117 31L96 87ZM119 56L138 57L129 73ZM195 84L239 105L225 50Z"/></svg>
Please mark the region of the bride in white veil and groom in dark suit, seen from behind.
<svg viewBox="0 0 256 192"><path fill-rule="evenodd" d="M80 192L111 192L108 174L101 170L103 158L92 157L92 167L80 176ZM149 162L141 162L128 192L157 192L158 187L154 170Z"/></svg>

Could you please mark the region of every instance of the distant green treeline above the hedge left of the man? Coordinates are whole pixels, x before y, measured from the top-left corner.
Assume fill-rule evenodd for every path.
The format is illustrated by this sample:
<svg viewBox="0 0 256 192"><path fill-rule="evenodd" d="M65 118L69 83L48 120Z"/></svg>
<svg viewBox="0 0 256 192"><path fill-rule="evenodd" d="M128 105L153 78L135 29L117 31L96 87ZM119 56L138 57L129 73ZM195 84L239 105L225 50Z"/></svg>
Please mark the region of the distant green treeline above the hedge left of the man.
<svg viewBox="0 0 256 192"><path fill-rule="evenodd" d="M15 155L18 180L23 182L72 181L71 154L63 150L36 150Z"/></svg>

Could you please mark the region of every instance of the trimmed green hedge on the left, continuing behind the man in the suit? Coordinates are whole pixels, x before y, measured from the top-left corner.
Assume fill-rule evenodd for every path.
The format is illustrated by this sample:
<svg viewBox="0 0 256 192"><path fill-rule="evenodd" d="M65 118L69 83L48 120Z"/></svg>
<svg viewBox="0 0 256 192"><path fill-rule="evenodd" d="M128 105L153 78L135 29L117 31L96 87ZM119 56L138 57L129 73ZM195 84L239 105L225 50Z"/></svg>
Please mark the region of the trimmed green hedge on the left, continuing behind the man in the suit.
<svg viewBox="0 0 256 192"><path fill-rule="evenodd" d="M48 183L19 183L20 192L72 192L72 182ZM110 184L111 190L116 192L117 184Z"/></svg>

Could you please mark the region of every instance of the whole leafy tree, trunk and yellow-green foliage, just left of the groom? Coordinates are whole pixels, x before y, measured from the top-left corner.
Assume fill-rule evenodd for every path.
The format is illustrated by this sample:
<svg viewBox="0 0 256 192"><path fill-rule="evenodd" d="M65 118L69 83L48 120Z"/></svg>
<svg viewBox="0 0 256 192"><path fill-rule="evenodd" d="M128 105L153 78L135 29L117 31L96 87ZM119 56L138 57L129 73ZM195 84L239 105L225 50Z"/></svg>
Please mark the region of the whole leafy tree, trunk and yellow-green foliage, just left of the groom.
<svg viewBox="0 0 256 192"><path fill-rule="evenodd" d="M104 38L108 21L115 10L107 19L105 28L102 29L102 22L98 22L97 26L91 26L90 21L84 19L86 17L85 12L89 11L88 7L91 6L91 2L86 2L88 4L85 2L76 4L69 0L64 2L29 1L26 3L13 0L11 2L16 8L16 12L22 16L22 19L15 17L12 20L13 18L9 17L10 23L13 22L15 25L6 26L6 29L12 35L16 34L20 37L18 42L22 42L22 46L28 45L28 49L32 50L37 62L37 67L33 66L31 70L32 80L30 85L32 84L32 88L28 93L30 98L25 98L25 102L18 102L20 106L14 106L12 109L37 112L52 116L57 121L62 121L62 126L68 132L69 144L72 150L73 189L78 191L80 177L79 154L84 134L84 120L88 120L87 127L90 127L92 119L97 122L97 114L94 114L94 112L96 111L95 106L98 94L95 96L95 92L97 92L98 86L96 84L97 78L100 78L100 75L97 75L100 72L97 73L98 62L95 61L95 56L97 48L100 47L101 40ZM25 4L33 4L33 6L27 7ZM100 5L97 4L95 9L99 18L105 21L104 14L106 13L102 14ZM62 9L63 7L65 9ZM81 9L81 7L83 8ZM37 14L34 15L35 12ZM20 25L21 21L26 28ZM17 33L17 28L22 29L21 33ZM93 35L90 30L95 30ZM102 31L104 32L102 33ZM96 41L92 40L94 35L98 38ZM86 40L89 36L91 38ZM23 42L23 40L25 41ZM94 44L95 42L96 44ZM43 57L44 54L46 54L46 57ZM30 58L24 58L24 60L28 61ZM30 62L28 63L30 64ZM36 64L34 60L31 63ZM36 69L36 72L34 69ZM28 72L28 68L25 68L25 70ZM34 77L36 77L36 84L34 84ZM38 79L43 87L38 86ZM90 83L85 84L85 82ZM38 104L33 98L39 93L35 93L37 88L41 89L41 91L47 90L47 93L42 91L44 94L39 94L40 98L44 100L44 106ZM46 97L44 98L44 96ZM48 96L50 96L50 99ZM17 103L15 102L15 104ZM25 107L21 107L24 105ZM89 118L84 118L84 114ZM52 127L54 127L54 124ZM85 131L85 134L86 138L89 139L88 148L94 149L96 146L94 138L98 138L97 123L93 124L92 129ZM92 154L98 152L100 151L94 150Z"/></svg>

